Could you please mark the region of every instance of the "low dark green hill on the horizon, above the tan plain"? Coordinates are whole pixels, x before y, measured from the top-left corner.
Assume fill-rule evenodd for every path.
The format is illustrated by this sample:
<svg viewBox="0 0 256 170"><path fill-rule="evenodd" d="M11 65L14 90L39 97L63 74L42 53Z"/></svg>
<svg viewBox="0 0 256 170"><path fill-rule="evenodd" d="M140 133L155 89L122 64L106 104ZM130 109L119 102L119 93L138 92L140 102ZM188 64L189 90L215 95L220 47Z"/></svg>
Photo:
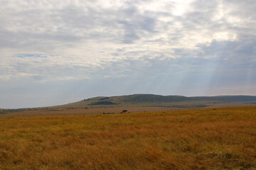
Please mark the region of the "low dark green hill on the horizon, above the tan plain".
<svg viewBox="0 0 256 170"><path fill-rule="evenodd" d="M256 96L161 96L154 94L133 94L127 96L102 96L87 98L85 100L69 103L63 107L177 107L177 108L203 108L216 103L246 103L256 104Z"/></svg>

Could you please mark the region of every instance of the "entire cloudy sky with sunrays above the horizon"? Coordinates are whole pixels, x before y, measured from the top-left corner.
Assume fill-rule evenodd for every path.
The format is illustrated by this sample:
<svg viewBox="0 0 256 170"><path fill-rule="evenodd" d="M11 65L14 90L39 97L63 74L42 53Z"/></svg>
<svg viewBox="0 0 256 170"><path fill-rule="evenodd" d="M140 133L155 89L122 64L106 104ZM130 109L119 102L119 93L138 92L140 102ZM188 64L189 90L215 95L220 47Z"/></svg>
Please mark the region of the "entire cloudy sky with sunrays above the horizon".
<svg viewBox="0 0 256 170"><path fill-rule="evenodd" d="M0 108L256 96L255 0L0 0Z"/></svg>

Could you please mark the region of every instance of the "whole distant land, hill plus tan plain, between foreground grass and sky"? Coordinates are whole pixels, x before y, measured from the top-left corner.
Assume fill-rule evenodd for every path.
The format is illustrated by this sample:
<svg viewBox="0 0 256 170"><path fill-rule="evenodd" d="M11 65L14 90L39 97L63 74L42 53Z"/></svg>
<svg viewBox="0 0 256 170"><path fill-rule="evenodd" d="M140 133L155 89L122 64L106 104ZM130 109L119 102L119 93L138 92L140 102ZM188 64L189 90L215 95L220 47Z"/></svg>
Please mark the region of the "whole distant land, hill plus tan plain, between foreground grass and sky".
<svg viewBox="0 0 256 170"><path fill-rule="evenodd" d="M0 114L16 115L58 115L58 114L92 114L119 113L128 110L166 111L189 108L221 108L228 106L256 105L256 96L161 96L154 94L133 94L127 96L100 96L87 98L62 106L42 108L0 109ZM14 116L16 116L14 115Z"/></svg>

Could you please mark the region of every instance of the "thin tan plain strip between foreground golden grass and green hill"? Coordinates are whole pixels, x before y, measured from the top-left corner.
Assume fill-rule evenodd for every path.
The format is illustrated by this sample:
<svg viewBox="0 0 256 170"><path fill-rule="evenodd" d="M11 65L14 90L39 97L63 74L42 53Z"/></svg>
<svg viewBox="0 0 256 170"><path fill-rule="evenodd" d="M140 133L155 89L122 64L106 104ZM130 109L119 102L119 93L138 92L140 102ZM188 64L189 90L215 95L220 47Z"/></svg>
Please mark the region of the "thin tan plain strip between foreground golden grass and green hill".
<svg viewBox="0 0 256 170"><path fill-rule="evenodd" d="M247 103L215 103L206 108L223 108L234 106L252 106ZM123 110L127 110L130 113L140 112L161 112L161 111L177 111L193 107L193 104L182 103L181 107L176 106L142 106L142 105L126 105L126 106L94 106L94 107L74 107L69 108L67 106L52 106L45 108L21 108L21 109L0 109L0 118L23 118L23 117L38 117L38 116L59 116L59 115L95 115L102 113L120 113Z"/></svg>

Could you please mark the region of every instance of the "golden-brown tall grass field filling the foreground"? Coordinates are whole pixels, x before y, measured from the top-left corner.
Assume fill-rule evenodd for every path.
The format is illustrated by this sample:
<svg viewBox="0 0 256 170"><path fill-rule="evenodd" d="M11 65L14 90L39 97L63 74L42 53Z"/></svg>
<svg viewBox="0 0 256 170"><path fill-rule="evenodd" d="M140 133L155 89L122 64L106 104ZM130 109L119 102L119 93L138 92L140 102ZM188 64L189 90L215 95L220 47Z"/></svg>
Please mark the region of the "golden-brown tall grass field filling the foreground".
<svg viewBox="0 0 256 170"><path fill-rule="evenodd" d="M256 107L0 119L0 169L255 169Z"/></svg>

